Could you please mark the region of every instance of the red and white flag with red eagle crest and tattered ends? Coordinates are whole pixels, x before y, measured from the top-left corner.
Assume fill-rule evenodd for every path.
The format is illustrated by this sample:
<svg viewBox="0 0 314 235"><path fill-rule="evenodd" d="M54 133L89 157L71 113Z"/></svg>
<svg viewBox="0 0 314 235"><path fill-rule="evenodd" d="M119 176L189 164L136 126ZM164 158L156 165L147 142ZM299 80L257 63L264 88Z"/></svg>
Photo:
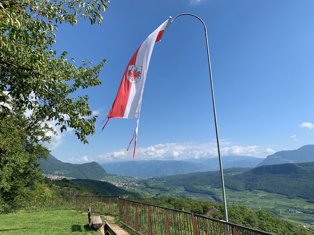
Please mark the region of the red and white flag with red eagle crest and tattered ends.
<svg viewBox="0 0 314 235"><path fill-rule="evenodd" d="M153 33L151 33L141 44L141 46L138 47L138 49L135 51L122 76L118 94L113 102L111 110L107 115L108 119L105 125L108 123L110 118L139 118L144 85L153 48L155 43L161 40L161 37L167 28L170 19L171 18L166 20ZM136 122L136 128L133 135L133 138L135 136L133 158L135 154L137 128L138 120Z"/></svg>

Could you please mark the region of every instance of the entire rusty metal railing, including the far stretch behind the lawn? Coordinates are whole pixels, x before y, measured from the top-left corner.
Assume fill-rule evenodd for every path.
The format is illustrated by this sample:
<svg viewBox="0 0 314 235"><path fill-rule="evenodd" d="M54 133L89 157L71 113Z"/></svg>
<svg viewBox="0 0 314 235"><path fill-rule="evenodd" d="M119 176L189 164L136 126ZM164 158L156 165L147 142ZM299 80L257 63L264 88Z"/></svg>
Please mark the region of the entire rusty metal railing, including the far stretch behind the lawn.
<svg viewBox="0 0 314 235"><path fill-rule="evenodd" d="M119 215L119 221L139 235L273 235L204 215L113 196L73 196L0 205L0 213L55 209Z"/></svg>

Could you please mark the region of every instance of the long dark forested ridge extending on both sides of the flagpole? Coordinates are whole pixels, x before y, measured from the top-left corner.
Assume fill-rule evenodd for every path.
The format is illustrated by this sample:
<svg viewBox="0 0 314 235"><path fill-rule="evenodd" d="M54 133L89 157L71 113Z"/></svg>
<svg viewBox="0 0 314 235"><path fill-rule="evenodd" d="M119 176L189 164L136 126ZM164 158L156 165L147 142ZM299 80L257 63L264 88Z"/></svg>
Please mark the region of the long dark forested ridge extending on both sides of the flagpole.
<svg viewBox="0 0 314 235"><path fill-rule="evenodd" d="M198 192L194 186L221 188L220 172L197 172L156 178ZM314 202L314 163L263 165L254 169L224 170L225 187L237 191L263 190L288 197L301 197ZM209 193L210 195L210 193Z"/></svg>

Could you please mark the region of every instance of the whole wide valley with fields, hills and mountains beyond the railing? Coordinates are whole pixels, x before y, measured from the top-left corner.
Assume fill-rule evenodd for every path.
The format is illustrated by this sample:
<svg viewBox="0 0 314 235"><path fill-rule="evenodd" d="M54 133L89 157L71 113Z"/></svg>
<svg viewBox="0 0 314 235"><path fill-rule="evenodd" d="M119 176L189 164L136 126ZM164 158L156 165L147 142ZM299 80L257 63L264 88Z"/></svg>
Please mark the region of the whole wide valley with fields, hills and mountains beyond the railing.
<svg viewBox="0 0 314 235"><path fill-rule="evenodd" d="M269 155L263 161L265 164L259 163L258 167L253 165L259 159L244 156L223 157L224 163L227 163L225 165L236 166L224 168L227 204L240 206L238 210L244 210L241 206L245 206L253 211L268 211L295 226L314 231L313 153L314 145L306 145L293 151L281 151ZM272 163L275 160L288 163L267 164L269 159ZM69 164L50 155L48 161L40 161L40 164L43 174L49 175L51 179L72 179L70 182L64 179L55 183L60 188L76 184L85 187L84 193L93 191L95 195L152 199L150 203L157 203L159 199L189 198L222 205L220 171L209 171L207 168L212 161L213 159L202 159L192 163L152 160L102 165L96 162ZM301 163L293 163L298 161ZM243 164L244 162L248 163ZM119 191L117 187L123 191ZM64 193L71 192L64 190L61 194ZM217 204L216 206L219 207ZM179 207L179 210L183 208ZM235 218L235 215L231 216Z"/></svg>

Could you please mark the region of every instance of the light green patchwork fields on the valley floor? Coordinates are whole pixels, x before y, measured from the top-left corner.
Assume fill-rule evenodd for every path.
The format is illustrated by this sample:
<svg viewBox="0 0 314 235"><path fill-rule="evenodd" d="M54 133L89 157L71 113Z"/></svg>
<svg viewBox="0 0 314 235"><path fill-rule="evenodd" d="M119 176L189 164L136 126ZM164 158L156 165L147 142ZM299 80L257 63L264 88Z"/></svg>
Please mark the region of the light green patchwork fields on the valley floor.
<svg viewBox="0 0 314 235"><path fill-rule="evenodd" d="M132 177L116 177L110 180L118 180L120 182L132 182L138 187L124 187L127 190L136 191L142 197L180 197L185 196L195 200L211 200L212 197L207 194L188 192L184 187L176 187L166 184L161 181L156 181L150 178L132 178ZM137 183L136 183L137 182ZM221 198L221 188L210 188L209 186L195 186L214 192ZM222 198L221 198L222 200ZM287 196L268 193L262 190L253 191L234 191L226 188L226 201L228 205L244 205L252 210L265 210L272 212L275 216L289 220L295 225L306 225L314 230L314 214L309 213L292 213L289 209L313 209L314 204L308 203L305 199L294 198L289 199Z"/></svg>

